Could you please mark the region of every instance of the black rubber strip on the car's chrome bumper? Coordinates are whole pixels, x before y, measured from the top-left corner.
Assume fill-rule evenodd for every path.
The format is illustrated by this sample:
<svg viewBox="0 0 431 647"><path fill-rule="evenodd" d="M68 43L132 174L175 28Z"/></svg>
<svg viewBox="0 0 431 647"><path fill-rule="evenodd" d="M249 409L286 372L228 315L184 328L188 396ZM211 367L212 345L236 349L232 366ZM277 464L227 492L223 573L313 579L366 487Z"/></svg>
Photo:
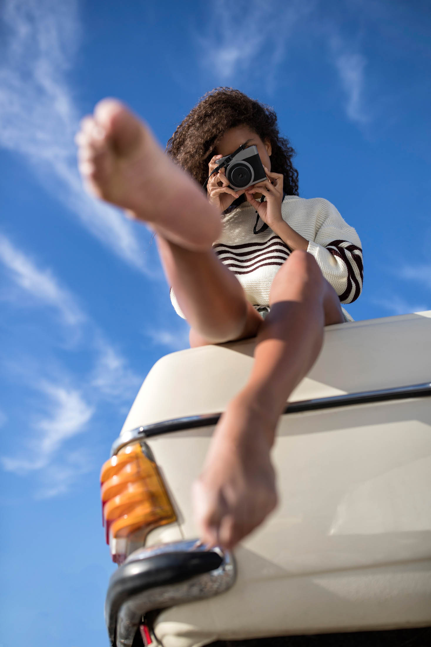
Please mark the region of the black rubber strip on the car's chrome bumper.
<svg viewBox="0 0 431 647"><path fill-rule="evenodd" d="M156 586L171 586L214 571L222 561L222 556L215 551L182 551L153 555L121 565L110 576L105 601L111 642L115 640L117 614L123 602Z"/></svg>

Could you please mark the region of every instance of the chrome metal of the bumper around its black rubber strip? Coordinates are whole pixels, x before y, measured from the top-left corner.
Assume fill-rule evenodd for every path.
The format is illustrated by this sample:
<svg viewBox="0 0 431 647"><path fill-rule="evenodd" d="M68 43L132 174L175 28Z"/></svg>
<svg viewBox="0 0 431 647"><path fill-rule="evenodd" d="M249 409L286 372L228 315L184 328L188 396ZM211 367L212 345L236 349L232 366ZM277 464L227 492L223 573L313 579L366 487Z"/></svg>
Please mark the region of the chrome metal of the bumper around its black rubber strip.
<svg viewBox="0 0 431 647"><path fill-rule="evenodd" d="M207 550L206 547L201 545L198 540L165 543L154 548L140 548L134 551L129 555L125 564L145 560L147 557L162 553L205 550ZM117 613L117 647L131 647L136 630L145 613L154 609L165 609L174 606L174 604L211 598L231 588L237 575L233 555L229 552L224 553L220 548L212 550L223 558L222 564L214 571L202 573L202 575L194 576L190 580L178 584L154 587L149 591L134 595L121 605ZM108 622L109 619L106 620Z"/></svg>

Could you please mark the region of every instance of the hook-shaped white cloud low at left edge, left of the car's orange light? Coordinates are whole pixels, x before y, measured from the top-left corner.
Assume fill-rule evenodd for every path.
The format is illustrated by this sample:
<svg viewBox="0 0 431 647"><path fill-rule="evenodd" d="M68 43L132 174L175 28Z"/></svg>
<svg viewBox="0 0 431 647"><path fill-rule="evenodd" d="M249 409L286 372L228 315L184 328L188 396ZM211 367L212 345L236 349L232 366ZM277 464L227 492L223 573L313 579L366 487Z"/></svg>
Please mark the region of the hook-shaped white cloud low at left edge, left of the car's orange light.
<svg viewBox="0 0 431 647"><path fill-rule="evenodd" d="M47 411L32 425L37 433L29 443L26 456L1 457L3 468L8 472L25 475L46 468L65 441L85 430L94 413L94 407L89 406L75 389L47 381L36 388L47 398Z"/></svg>

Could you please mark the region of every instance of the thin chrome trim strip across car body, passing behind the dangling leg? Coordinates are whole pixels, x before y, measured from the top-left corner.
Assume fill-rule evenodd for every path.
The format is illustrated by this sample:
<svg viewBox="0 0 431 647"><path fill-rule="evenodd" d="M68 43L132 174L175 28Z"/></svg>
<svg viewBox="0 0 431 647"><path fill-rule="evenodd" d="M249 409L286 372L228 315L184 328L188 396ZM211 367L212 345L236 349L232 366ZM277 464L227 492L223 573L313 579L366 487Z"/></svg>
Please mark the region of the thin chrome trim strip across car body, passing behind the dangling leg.
<svg viewBox="0 0 431 647"><path fill-rule="evenodd" d="M374 391L360 391L358 393L333 395L327 398L299 400L298 402L290 402L283 413L302 413L303 411L319 411L322 409L332 409L341 406L371 404L373 402L405 400L409 398L429 396L431 396L431 382L423 382L422 384L398 386L390 389L376 389ZM114 444L112 444L110 455L113 456L117 454L121 447L132 443L132 441L150 438L152 436L161 435L162 433L172 433L184 429L214 426L217 424L221 415L221 413L190 415L183 418L174 418L172 420L165 420L137 427L136 429L121 433L120 437L114 441Z"/></svg>

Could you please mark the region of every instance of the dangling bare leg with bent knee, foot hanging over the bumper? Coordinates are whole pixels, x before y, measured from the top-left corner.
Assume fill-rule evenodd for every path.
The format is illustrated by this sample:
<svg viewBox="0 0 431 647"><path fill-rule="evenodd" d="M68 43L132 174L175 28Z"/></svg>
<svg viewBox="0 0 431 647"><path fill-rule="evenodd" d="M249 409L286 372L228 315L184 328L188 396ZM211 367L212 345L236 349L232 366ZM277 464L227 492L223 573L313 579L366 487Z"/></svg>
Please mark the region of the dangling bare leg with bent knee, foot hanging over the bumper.
<svg viewBox="0 0 431 647"><path fill-rule="evenodd" d="M343 321L339 299L315 259L297 251L278 272L246 387L220 420L194 484L200 535L233 547L277 503L270 450L292 389L319 355L323 326Z"/></svg>

